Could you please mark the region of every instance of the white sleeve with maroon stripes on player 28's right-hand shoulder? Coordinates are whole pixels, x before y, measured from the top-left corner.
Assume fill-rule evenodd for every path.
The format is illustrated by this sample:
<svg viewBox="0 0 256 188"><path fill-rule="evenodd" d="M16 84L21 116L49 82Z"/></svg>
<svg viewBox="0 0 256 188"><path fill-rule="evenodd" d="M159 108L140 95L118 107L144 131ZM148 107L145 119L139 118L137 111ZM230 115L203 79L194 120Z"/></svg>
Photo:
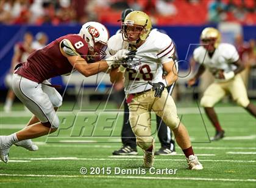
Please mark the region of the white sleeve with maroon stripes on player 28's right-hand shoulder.
<svg viewBox="0 0 256 188"><path fill-rule="evenodd" d="M176 53L176 47L174 42L172 42L171 38L168 35L165 35L162 39L162 45L157 53L157 58L160 60L161 64L169 62L171 60L174 61Z"/></svg>

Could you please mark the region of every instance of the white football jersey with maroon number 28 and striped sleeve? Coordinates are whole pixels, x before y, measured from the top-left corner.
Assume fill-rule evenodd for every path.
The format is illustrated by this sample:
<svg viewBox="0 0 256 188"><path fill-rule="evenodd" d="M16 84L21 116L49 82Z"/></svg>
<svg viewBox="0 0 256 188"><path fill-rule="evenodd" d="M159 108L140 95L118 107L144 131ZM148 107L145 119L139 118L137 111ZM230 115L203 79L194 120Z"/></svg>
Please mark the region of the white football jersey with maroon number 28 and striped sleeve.
<svg viewBox="0 0 256 188"><path fill-rule="evenodd" d="M115 55L121 49L131 50L129 43L123 41L122 34L118 33L108 40L108 51L110 55ZM144 44L138 47L135 58L129 62L124 73L126 95L151 89L148 81L163 82L162 64L172 61L175 51L175 45L168 35L152 30Z"/></svg>

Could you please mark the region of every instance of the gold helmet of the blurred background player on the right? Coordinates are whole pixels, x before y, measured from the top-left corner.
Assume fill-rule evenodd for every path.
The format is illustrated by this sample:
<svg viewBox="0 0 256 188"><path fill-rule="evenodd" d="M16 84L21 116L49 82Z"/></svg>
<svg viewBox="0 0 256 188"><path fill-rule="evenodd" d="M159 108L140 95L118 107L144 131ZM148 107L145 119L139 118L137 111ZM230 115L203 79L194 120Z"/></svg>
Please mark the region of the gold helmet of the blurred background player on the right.
<svg viewBox="0 0 256 188"><path fill-rule="evenodd" d="M219 31L213 27L206 27L204 30L202 30L200 39L203 43L213 41L214 47L217 48L219 42L221 42L221 33L219 33Z"/></svg>

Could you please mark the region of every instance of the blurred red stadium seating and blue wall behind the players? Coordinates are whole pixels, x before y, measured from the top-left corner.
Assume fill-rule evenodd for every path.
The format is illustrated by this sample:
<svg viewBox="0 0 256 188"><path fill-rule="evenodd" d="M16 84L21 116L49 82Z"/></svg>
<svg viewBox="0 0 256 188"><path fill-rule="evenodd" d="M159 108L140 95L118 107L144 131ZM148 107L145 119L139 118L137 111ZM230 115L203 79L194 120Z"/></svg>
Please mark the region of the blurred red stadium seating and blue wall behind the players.
<svg viewBox="0 0 256 188"><path fill-rule="evenodd" d="M7 6L10 4L9 6ZM9 72L13 55L13 46L23 39L25 32L34 36L38 32L48 35L49 42L68 33L78 33L85 21L99 21L105 24L114 35L120 27L121 11L124 8L137 8L149 13L154 28L164 30L177 45L179 67L181 71L189 70L189 59L204 27L213 26L221 29L222 41L234 44L235 36L243 35L244 41L255 39L256 31L256 2L247 1L162 1L162 0L59 0L59 1L1 1L0 14L0 90L1 101L5 95L5 75ZM221 7L222 11L218 12ZM15 11L8 15L8 11ZM215 13L216 12L216 13ZM192 45L190 45L192 44ZM185 61L183 61L185 60ZM255 97L255 70L249 75L249 96ZM187 79L185 79L187 80ZM90 81L89 81L90 82ZM62 85L62 77L52 79L52 84ZM74 84L74 83L73 83ZM68 87L73 87L69 84ZM77 83L78 85L80 82ZM90 82L93 87L96 83ZM104 93L109 82L102 82L99 93ZM86 87L87 84L85 84ZM186 92L185 81L181 82L183 92ZM97 92L97 91L96 91Z"/></svg>

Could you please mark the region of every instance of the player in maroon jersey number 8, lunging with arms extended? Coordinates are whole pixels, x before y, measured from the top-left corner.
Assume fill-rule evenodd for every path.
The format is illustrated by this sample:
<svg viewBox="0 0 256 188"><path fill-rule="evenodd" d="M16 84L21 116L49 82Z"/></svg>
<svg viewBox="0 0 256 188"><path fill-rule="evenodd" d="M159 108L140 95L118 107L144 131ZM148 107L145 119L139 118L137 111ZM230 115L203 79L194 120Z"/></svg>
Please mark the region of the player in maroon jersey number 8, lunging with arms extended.
<svg viewBox="0 0 256 188"><path fill-rule="evenodd" d="M87 22L79 35L65 35L43 49L33 52L27 61L18 64L13 73L13 91L34 114L27 126L9 136L0 136L0 156L8 162L13 144L30 149L31 139L55 132L59 127L56 114L62 105L62 96L47 79L77 70L84 76L105 72L117 61L127 58L128 50L119 50L114 56L105 56L108 30L98 22ZM93 63L92 63L93 62Z"/></svg>

